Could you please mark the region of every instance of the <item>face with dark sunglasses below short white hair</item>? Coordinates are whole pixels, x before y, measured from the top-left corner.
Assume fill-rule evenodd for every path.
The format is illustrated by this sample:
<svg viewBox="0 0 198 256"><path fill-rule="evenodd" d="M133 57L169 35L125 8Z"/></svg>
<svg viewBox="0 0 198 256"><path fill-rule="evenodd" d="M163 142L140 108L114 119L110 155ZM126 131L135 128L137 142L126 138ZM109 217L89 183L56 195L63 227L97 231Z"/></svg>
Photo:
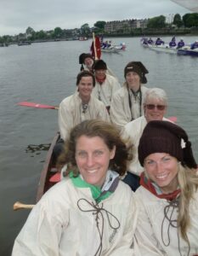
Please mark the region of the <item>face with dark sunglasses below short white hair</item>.
<svg viewBox="0 0 198 256"><path fill-rule="evenodd" d="M167 106L161 100L150 98L144 103L144 116L147 122L162 120L166 112Z"/></svg>

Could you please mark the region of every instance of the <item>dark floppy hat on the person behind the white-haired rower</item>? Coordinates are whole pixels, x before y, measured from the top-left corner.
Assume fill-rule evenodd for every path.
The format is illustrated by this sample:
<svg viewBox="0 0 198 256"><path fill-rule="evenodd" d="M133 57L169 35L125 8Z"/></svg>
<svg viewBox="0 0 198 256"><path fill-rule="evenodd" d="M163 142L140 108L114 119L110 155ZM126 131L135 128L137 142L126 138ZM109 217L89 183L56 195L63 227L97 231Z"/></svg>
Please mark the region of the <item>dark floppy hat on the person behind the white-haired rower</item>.
<svg viewBox="0 0 198 256"><path fill-rule="evenodd" d="M142 84L147 83L147 79L145 77L146 73L149 73L149 71L144 67L141 61L131 61L127 63L127 66L124 68L124 77L126 78L126 75L128 72L135 72L139 74L140 80Z"/></svg>

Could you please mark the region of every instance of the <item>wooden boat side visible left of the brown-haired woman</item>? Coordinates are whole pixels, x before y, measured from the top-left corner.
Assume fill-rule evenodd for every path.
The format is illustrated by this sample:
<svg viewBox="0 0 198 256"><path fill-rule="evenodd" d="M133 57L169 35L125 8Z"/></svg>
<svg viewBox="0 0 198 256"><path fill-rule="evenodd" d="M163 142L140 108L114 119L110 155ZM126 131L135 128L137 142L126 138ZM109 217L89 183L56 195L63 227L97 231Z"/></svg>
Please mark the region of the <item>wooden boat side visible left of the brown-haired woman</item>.
<svg viewBox="0 0 198 256"><path fill-rule="evenodd" d="M57 172L57 169L55 168L55 162L54 162L54 156L53 156L53 148L58 140L59 140L59 132L56 133L56 135L48 149L48 154L46 156L46 160L42 167L41 177L40 177L40 181L38 183L36 201L39 201L41 199L42 195L48 189L50 189L52 186L54 186L55 183L57 183L59 181L60 175L59 175L59 172Z"/></svg>

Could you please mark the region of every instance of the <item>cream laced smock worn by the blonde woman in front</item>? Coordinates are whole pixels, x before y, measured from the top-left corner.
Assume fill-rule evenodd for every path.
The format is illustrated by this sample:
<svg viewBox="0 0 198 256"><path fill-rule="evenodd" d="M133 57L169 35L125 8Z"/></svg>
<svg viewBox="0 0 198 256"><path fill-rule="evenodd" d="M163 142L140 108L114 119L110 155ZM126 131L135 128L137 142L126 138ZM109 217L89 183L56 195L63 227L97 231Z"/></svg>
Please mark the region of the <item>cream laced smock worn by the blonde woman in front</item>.
<svg viewBox="0 0 198 256"><path fill-rule="evenodd" d="M140 186L135 192L135 199L139 204L140 213L136 230L136 237L140 253L144 256L195 256L198 255L198 191L195 200L190 201L190 229L187 236L190 241L190 253L188 244L178 235L176 225L178 218L177 208L167 207L166 199L161 199L150 193L149 190ZM165 218L167 207L167 218ZM171 214L173 216L171 217ZM172 219L172 223L168 220ZM164 219L164 221L163 221ZM162 230L161 230L162 229ZM162 232L162 236L161 236ZM179 240L178 240L179 238ZM164 242L162 241L164 240ZM165 246L165 244L167 246ZM179 243L179 246L178 246ZM179 249L180 252L179 253Z"/></svg>

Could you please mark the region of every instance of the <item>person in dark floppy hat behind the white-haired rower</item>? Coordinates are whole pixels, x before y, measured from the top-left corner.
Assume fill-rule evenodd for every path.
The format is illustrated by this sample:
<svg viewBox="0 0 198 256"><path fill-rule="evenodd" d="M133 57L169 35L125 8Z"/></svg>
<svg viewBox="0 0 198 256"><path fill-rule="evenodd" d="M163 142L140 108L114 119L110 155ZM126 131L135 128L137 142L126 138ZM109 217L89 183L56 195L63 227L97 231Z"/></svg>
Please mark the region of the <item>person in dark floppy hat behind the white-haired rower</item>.
<svg viewBox="0 0 198 256"><path fill-rule="evenodd" d="M142 84L147 83L146 73L149 72L140 61L131 61L124 68L126 81L110 103L110 120L119 129L144 114L143 99L148 89Z"/></svg>

